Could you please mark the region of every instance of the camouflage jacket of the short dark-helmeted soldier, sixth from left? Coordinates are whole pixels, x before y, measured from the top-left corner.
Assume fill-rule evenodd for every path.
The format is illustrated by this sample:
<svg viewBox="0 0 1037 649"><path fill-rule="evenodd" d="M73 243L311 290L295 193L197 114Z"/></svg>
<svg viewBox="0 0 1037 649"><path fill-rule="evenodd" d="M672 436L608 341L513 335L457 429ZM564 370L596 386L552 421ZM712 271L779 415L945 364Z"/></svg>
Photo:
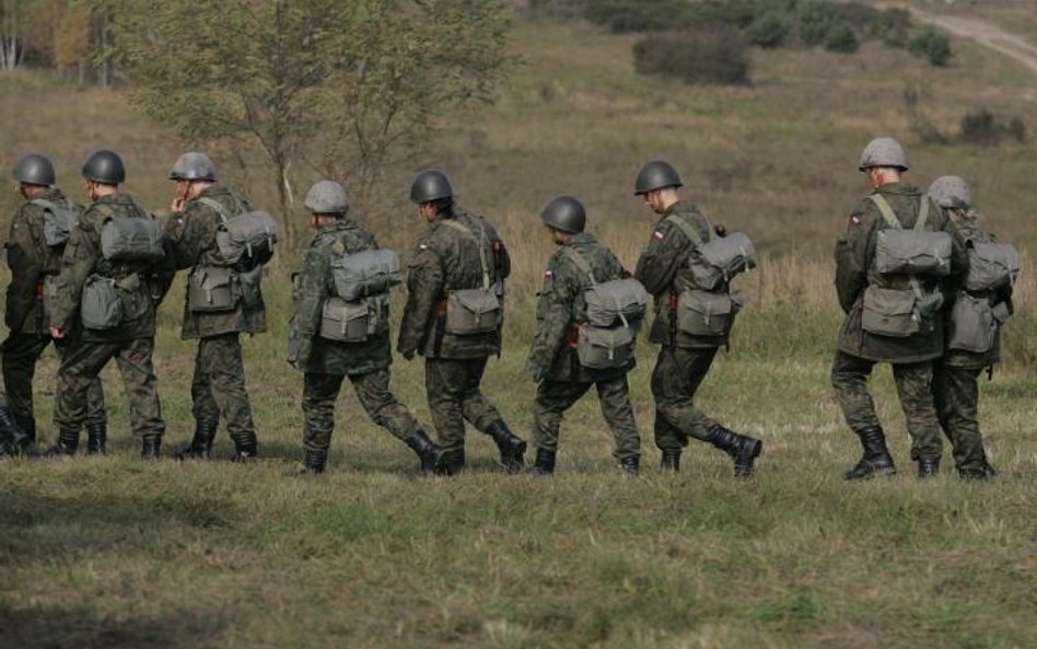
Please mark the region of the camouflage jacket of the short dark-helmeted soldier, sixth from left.
<svg viewBox="0 0 1037 649"><path fill-rule="evenodd" d="M574 234L547 262L544 287L537 293L536 333L529 346L526 371L534 379L587 383L621 374L633 368L592 370L580 364L574 340L575 327L587 320L584 292L591 278L581 270L571 253L573 248L586 259L597 282L620 279L628 274L610 250L587 233Z"/></svg>

